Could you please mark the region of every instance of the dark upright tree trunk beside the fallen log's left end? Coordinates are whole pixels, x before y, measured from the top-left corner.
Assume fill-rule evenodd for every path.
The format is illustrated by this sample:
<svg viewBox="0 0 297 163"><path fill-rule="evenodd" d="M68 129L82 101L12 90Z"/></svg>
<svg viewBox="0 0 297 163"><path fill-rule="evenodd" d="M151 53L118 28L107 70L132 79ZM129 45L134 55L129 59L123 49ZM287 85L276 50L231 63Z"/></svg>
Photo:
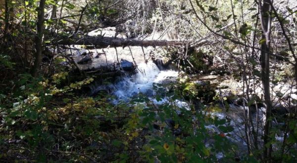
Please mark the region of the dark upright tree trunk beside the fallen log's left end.
<svg viewBox="0 0 297 163"><path fill-rule="evenodd" d="M35 60L34 66L32 69L32 76L37 77L40 69L41 61L42 61L42 38L43 38L43 30L44 30L44 19L45 19L45 2L46 0L40 0L39 8L38 8L38 17L37 17L37 34L35 37Z"/></svg>

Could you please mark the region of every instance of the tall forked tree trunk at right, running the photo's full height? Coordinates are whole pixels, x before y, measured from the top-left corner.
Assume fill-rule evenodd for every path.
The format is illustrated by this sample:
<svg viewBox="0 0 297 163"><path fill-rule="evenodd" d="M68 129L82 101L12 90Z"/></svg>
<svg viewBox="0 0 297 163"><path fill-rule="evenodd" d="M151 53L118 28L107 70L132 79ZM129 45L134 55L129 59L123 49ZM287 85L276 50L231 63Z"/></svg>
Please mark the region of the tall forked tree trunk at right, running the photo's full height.
<svg viewBox="0 0 297 163"><path fill-rule="evenodd" d="M271 6L270 0L258 0L259 14L262 28L262 43L261 43L261 66L262 66L262 84L264 88L264 99L266 104L266 115L264 122L264 151L263 159L267 162L271 157L271 145L267 145L270 142L270 124L271 124L271 98L270 98L270 68L269 68L269 51L270 51L270 31L271 31Z"/></svg>

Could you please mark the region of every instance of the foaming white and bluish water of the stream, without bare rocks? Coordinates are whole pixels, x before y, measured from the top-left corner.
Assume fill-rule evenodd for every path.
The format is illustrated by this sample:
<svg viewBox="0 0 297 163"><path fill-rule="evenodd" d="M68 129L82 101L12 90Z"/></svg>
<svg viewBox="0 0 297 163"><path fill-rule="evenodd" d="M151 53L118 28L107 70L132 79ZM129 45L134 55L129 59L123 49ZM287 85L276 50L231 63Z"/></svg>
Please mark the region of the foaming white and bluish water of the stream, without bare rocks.
<svg viewBox="0 0 297 163"><path fill-rule="evenodd" d="M125 76L118 77L113 84L101 85L96 87L96 91L109 89L111 94L116 98L112 100L113 104L120 102L129 102L129 100L142 93L146 95L155 105L160 105L168 102L166 97L161 101L155 99L156 92L153 89L154 84L175 83L179 76L178 71L159 69L152 61L146 63L140 63L136 69L136 73L126 73ZM93 88L94 89L94 88ZM175 100L175 105L178 107L184 107L190 109L189 104L186 101ZM224 110L224 109L222 109ZM234 127L234 130L229 133L225 133L228 139L239 146L239 153L247 151L247 143L245 140L245 125L244 125L244 107L235 106L230 104L229 112L213 112L212 116L216 116L219 119L230 119L230 125ZM219 132L219 129L214 125L206 126L210 131ZM218 158L223 156L218 155Z"/></svg>

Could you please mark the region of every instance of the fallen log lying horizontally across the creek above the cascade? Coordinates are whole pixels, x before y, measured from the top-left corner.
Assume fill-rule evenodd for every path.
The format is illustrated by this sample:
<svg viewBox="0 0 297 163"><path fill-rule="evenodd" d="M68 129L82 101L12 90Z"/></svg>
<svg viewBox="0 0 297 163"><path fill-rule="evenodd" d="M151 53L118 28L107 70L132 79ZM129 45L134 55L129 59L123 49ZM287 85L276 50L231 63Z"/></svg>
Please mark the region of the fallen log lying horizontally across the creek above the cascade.
<svg viewBox="0 0 297 163"><path fill-rule="evenodd" d="M199 45L203 45L208 41L202 41ZM122 38L111 38L111 37L75 37L69 39L60 39L54 44L58 45L93 45L97 48L105 47L125 47L125 46L183 46L189 44L188 41L178 40L136 40L136 39L122 39ZM195 44L197 45L197 44Z"/></svg>

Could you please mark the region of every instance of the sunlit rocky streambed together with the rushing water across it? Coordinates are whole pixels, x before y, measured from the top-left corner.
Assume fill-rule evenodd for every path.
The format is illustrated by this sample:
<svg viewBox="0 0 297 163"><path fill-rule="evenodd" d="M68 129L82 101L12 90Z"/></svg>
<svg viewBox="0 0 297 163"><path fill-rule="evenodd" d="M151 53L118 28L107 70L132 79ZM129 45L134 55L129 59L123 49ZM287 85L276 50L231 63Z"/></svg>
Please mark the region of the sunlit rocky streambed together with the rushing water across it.
<svg viewBox="0 0 297 163"><path fill-rule="evenodd" d="M108 37L124 37L121 34L117 34L113 28L92 31L89 35L97 36L102 35L102 33L104 36ZM151 39L151 37L145 39ZM230 124L235 129L232 132L224 134L228 136L230 141L240 147L239 153L245 153L247 151L245 125L248 101L243 95L244 82L224 74L187 76L180 71L162 67L162 65L164 65L163 63L156 62L156 60L153 61L152 54L154 54L154 48L138 46L124 48L107 47L101 49L72 46L71 50L68 49L68 52L66 52L66 55L73 58L77 68L81 71L99 74L120 72L115 76L113 83L89 85L91 90L89 95L95 96L99 91L107 91L115 97L111 99L111 102L115 105L121 102L127 103L131 98L137 97L139 94L147 96L156 106L167 102L172 103L172 101L169 101L170 97L166 96L166 91L168 90L165 89L164 85L170 83L177 84L178 82L187 82L188 86L191 87L194 85L194 88L197 88L196 85L202 85L199 87L201 87L203 91L195 90L198 91L198 94L199 91L201 91L203 94L208 95L207 98L211 98L210 100L215 96L220 97L215 100L216 104L212 106L212 110L207 114L218 117L219 119L230 120ZM155 56L156 54L154 54L154 57ZM156 63L160 63L160 65L156 65ZM262 97L262 89L258 80L250 79L249 82L253 82L253 86L255 87L255 91L251 94L260 99ZM211 87L209 84L215 86ZM161 99L160 91L156 91L154 88L156 85L161 89ZM289 90L291 88L290 85L285 85L281 82L274 85L274 88L276 90L272 92L276 97L274 99L274 111L276 114L286 113L287 106L279 101L279 99L288 96L288 99L296 100L296 93L289 94L288 92L296 92L297 90ZM186 91L187 94L187 91L191 92L193 90L184 89L184 91ZM255 98L255 101L257 101L257 98ZM204 99L202 98L202 100ZM173 103L175 106L190 110L189 106L195 102L185 99L176 99ZM195 105L197 105L197 103L199 105L205 105L202 101L196 101ZM250 108L253 108L253 110L249 110L251 112L250 116L252 117L252 122L258 125L259 136L261 136L262 115L265 110L263 105L257 102L252 104ZM219 132L217 126L209 125L207 128L210 132ZM282 136L283 135L276 135L277 140L281 141Z"/></svg>

